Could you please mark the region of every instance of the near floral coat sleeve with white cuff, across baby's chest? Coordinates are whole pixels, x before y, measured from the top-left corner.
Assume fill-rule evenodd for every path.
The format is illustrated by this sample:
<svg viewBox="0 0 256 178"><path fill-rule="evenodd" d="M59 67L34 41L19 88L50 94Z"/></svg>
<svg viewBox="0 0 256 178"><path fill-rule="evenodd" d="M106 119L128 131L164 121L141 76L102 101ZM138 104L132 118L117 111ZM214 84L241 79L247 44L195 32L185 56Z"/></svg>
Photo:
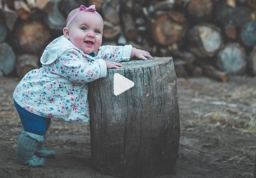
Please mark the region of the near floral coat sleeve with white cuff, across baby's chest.
<svg viewBox="0 0 256 178"><path fill-rule="evenodd" d="M107 66L103 59L91 61L77 50L65 51L48 70L76 83L88 83L106 77Z"/></svg>

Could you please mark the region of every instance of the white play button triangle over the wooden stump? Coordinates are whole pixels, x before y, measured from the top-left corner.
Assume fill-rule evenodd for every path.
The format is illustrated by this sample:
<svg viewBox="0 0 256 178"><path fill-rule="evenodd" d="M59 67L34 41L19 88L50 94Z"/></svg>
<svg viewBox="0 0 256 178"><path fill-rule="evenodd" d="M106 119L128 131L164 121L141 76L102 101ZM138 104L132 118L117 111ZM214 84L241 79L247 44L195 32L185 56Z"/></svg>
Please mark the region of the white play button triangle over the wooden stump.
<svg viewBox="0 0 256 178"><path fill-rule="evenodd" d="M134 83L124 76L115 73L114 74L114 94L117 96L122 92L132 88Z"/></svg>

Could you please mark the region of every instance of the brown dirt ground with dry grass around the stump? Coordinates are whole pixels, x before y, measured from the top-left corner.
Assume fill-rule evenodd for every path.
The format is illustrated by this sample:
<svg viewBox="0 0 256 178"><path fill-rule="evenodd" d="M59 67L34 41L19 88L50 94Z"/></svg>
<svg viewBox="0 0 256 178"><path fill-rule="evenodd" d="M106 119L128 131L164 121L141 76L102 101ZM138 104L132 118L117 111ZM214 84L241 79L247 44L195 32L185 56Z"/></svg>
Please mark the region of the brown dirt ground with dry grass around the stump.
<svg viewBox="0 0 256 178"><path fill-rule="evenodd" d="M18 79L0 78L0 178L114 178L91 167L88 124L53 122L46 166L15 160L22 127L12 91ZM253 178L256 151L256 78L178 79L181 137L176 174L157 178Z"/></svg>

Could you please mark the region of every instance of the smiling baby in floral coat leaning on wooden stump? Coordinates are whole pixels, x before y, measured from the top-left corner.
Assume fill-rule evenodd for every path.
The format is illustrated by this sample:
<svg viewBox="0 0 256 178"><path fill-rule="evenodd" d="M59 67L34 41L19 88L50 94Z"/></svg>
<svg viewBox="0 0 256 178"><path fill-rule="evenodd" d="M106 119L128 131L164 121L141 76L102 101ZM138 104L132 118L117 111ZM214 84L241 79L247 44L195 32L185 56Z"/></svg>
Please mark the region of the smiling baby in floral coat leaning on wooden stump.
<svg viewBox="0 0 256 178"><path fill-rule="evenodd" d="M17 159L29 166L44 166L44 157L55 152L44 147L51 120L88 122L88 85L106 77L132 57L146 60L147 51L131 45L102 44L103 19L95 6L73 9L63 36L45 48L42 67L28 72L13 92L14 105L24 131L17 142Z"/></svg>

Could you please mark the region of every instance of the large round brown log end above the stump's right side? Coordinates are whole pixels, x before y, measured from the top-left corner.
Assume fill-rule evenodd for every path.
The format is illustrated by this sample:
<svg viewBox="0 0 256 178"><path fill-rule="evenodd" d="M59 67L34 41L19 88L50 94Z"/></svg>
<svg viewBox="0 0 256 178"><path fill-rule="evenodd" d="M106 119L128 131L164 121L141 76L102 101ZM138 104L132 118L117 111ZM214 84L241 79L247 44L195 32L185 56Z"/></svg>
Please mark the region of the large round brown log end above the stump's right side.
<svg viewBox="0 0 256 178"><path fill-rule="evenodd" d="M156 43L171 45L181 41L187 32L187 20L183 13L171 11L158 15L151 24Z"/></svg>

